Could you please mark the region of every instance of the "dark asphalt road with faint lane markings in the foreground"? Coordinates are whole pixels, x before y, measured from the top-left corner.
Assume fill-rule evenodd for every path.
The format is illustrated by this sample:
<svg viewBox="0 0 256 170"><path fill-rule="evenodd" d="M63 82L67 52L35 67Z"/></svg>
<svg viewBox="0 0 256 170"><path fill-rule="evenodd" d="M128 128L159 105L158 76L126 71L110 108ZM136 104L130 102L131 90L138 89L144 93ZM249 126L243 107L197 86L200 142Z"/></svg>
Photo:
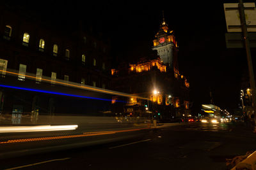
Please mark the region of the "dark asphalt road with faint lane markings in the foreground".
<svg viewBox="0 0 256 170"><path fill-rule="evenodd" d="M81 141L87 143L90 141L91 145L68 147L70 143L81 143ZM0 167L1 169L226 169L226 159L256 150L255 141L256 134L239 123L165 124L159 125L157 129L8 144L10 147L41 145L44 148L44 143L49 143L52 148L58 144L63 147L61 150L52 149L33 155L17 154L7 159L0 159ZM8 148L8 145L0 144L0 149Z"/></svg>

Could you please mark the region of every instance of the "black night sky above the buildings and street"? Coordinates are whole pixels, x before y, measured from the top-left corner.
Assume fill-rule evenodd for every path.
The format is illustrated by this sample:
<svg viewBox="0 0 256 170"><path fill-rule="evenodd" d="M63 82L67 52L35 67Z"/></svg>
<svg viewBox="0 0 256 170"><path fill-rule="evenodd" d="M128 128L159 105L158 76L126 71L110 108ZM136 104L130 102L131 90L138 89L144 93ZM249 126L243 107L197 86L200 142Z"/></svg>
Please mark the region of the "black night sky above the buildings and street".
<svg viewBox="0 0 256 170"><path fill-rule="evenodd" d="M93 25L111 38L113 62L134 62L149 55L152 40L164 18L179 45L179 69L190 83L193 111L210 103L231 111L238 108L242 76L248 74L243 49L227 49L223 3L238 1L54 1L20 3L31 11L44 13L42 19L56 17L62 24L77 18ZM248 2L248 1L246 1ZM252 57L256 55L252 49Z"/></svg>

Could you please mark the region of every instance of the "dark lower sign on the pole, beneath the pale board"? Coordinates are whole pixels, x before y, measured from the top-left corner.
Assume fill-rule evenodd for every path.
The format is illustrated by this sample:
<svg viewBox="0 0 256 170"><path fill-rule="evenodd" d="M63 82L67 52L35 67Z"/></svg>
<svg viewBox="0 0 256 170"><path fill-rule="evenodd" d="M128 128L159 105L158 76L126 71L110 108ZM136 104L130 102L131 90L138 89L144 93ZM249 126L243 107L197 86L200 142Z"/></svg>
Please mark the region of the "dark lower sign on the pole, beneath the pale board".
<svg viewBox="0 0 256 170"><path fill-rule="evenodd" d="M231 32L225 34L227 48L244 48L243 33ZM256 48L256 32L248 32L250 48Z"/></svg>

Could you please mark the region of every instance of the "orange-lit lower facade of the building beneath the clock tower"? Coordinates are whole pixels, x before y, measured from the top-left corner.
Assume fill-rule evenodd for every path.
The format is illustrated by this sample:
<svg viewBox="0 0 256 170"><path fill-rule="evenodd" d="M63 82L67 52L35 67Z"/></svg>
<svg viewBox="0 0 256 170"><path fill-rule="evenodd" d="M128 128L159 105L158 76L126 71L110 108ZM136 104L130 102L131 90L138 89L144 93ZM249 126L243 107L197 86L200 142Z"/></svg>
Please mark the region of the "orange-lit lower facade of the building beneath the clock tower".
<svg viewBox="0 0 256 170"><path fill-rule="evenodd" d="M134 116L140 116L141 113L148 111L156 115L154 111L157 111L163 120L191 114L188 80L180 74L175 77L175 74L164 66L159 57L156 57L111 69L113 90L148 98L147 101L130 97L124 108L120 106L120 110ZM113 99L116 100L118 97ZM145 110L144 106L147 103L148 110Z"/></svg>

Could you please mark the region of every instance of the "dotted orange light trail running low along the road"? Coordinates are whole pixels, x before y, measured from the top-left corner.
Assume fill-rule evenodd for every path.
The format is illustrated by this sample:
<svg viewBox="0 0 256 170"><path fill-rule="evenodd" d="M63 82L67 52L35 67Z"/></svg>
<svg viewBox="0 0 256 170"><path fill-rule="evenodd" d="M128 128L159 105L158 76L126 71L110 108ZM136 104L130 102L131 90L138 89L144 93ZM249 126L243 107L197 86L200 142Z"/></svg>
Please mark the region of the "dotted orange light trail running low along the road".
<svg viewBox="0 0 256 170"><path fill-rule="evenodd" d="M68 136L51 136L51 137L44 137L44 138L12 139L12 140L8 140L8 141L2 141L2 142L0 142L0 144L20 143L20 142L29 142L29 141L45 141L45 140L53 140L53 139L79 138L79 137L86 137L86 136L97 136L97 135L104 135L104 134L115 134L115 133L118 133L118 132L141 131L143 129L150 129L150 127L140 128L140 129L120 130L120 131L84 132L83 134L68 135Z"/></svg>

